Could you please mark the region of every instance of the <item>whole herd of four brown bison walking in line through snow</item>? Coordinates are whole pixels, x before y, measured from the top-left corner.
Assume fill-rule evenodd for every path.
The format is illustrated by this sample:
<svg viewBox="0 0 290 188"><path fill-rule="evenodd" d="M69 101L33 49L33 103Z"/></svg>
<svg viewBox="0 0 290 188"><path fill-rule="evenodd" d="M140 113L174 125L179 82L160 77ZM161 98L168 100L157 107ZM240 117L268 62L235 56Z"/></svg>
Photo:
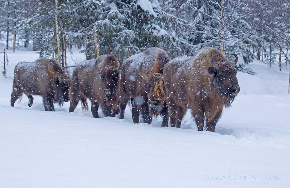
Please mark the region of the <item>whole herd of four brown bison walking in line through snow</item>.
<svg viewBox="0 0 290 188"><path fill-rule="evenodd" d="M194 56L170 59L160 48L148 48L128 57L122 65L115 55L107 54L86 60L75 67L70 78L53 59L20 62L14 69L11 106L32 95L41 95L45 111L54 111L54 103L70 101L73 112L81 101L82 109L99 118L98 109L105 116L124 118L124 110L131 103L134 123L141 114L150 124L153 116L162 116L161 127L180 128L187 109L198 130L215 131L223 107L231 106L240 92L236 77L238 67L217 49L205 47ZM205 127L204 127L205 125Z"/></svg>

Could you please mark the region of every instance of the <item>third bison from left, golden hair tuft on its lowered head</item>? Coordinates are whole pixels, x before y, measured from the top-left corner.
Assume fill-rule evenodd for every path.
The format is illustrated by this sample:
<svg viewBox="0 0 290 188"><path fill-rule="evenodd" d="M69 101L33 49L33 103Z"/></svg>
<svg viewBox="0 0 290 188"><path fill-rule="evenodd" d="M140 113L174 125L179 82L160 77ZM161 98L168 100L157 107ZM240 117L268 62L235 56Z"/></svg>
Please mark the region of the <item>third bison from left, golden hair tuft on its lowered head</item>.
<svg viewBox="0 0 290 188"><path fill-rule="evenodd" d="M131 100L134 123L139 123L141 110L146 123L151 123L153 115L161 114L163 117L161 127L167 127L167 105L162 73L164 65L169 60L169 56L160 48L148 48L126 59L120 71L120 119L124 118L124 110Z"/></svg>

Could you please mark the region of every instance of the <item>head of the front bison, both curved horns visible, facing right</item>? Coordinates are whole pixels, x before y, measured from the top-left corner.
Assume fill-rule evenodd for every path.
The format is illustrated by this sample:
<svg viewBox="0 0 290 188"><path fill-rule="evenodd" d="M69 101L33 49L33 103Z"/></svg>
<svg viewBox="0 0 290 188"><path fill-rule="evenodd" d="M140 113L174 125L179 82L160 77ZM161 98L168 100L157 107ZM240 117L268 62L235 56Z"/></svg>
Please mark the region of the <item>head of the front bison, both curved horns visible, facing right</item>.
<svg viewBox="0 0 290 188"><path fill-rule="evenodd" d="M209 73L213 76L213 84L216 90L222 94L235 98L240 92L240 86L237 79L238 67L238 56L235 56L235 60L232 61L214 61L218 54L214 54L211 57L211 67L208 68Z"/></svg>

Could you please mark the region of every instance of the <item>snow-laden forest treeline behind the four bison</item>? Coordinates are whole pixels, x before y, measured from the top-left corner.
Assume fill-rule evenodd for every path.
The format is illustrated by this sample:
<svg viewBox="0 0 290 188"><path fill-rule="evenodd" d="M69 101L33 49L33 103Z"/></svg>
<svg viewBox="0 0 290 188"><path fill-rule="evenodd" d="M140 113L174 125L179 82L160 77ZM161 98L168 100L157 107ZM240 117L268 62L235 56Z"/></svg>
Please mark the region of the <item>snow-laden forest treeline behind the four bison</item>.
<svg viewBox="0 0 290 188"><path fill-rule="evenodd" d="M213 46L245 63L281 65L289 12L289 0L0 0L0 39L62 63L75 46L87 59L114 53L121 61L148 47L176 57Z"/></svg>

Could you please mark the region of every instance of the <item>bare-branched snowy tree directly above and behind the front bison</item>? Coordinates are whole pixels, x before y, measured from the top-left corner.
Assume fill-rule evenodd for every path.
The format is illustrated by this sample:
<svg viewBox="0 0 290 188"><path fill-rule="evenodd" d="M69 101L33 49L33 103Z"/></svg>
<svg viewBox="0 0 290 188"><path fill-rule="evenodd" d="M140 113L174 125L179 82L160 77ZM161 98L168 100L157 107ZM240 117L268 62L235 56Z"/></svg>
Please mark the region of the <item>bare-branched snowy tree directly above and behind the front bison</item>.
<svg viewBox="0 0 290 188"><path fill-rule="evenodd" d="M189 30L200 34L206 45L219 46L223 54L226 50L238 55L252 53L250 37L247 38L252 29L245 21L251 13L247 0L210 0L198 3L186 0L186 4L195 12ZM243 47L239 48L241 46Z"/></svg>

